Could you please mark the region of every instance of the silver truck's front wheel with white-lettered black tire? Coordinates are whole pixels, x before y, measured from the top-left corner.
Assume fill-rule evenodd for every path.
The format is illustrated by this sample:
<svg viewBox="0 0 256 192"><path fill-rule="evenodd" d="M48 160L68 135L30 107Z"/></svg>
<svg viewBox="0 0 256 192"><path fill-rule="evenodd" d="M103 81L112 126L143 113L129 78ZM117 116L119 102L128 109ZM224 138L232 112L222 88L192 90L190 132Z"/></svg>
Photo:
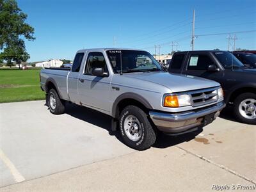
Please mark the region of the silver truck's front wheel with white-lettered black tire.
<svg viewBox="0 0 256 192"><path fill-rule="evenodd" d="M133 123L129 121L129 118L132 116L135 117L134 119L138 121L138 124L136 124L136 122L134 123L134 120L131 120L131 122ZM133 127L134 124L138 125L136 126L139 127L138 132L140 132L140 137L138 137L138 140L131 140L131 138L129 138L129 136L127 135L127 132L125 132L125 120L126 122L130 122L130 124L132 124L131 127ZM145 150L151 147L156 141L156 132L154 131L152 125L148 121L147 114L137 106L125 107L120 115L119 124L122 139L125 145L131 148L134 148L136 150Z"/></svg>

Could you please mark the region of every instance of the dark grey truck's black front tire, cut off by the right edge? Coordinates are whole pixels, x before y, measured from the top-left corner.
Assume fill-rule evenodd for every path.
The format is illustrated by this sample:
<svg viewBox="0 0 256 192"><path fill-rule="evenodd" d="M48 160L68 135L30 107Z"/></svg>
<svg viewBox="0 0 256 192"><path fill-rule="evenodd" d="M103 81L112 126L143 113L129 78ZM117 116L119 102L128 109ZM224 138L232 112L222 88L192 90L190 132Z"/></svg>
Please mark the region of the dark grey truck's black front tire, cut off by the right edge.
<svg viewBox="0 0 256 192"><path fill-rule="evenodd" d="M244 117L240 112L239 112L239 105L246 99L250 99L250 100L256 100L256 94L255 93L242 93L241 95L239 95L236 100L234 101L234 115L236 116L237 120L239 120L240 122L243 122L244 124L253 124L256 125L256 118L250 119L250 118L246 118ZM254 108L256 110L256 103L254 104ZM244 108L243 108L244 109ZM254 111L254 114L256 112Z"/></svg>

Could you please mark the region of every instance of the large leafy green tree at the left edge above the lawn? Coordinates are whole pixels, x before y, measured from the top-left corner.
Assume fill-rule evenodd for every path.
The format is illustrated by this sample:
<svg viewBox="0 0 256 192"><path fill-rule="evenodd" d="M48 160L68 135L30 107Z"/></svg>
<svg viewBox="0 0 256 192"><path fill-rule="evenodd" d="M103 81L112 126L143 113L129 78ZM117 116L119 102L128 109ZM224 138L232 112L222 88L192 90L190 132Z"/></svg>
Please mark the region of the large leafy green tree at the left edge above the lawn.
<svg viewBox="0 0 256 192"><path fill-rule="evenodd" d="M35 40L35 37L34 28L25 22L27 17L15 0L0 0L0 60L10 67L12 61L20 64L29 59L24 39Z"/></svg>

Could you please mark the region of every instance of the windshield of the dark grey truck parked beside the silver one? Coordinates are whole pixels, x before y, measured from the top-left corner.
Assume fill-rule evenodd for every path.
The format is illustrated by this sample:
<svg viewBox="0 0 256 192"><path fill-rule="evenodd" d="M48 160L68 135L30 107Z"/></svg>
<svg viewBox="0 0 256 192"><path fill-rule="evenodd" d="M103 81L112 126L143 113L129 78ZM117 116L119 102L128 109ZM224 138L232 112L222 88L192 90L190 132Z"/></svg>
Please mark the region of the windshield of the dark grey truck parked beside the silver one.
<svg viewBox="0 0 256 192"><path fill-rule="evenodd" d="M241 61L237 60L236 56L232 53L227 51L218 51L214 52L217 60L220 61L221 65L225 68L232 68L232 67L244 67Z"/></svg>

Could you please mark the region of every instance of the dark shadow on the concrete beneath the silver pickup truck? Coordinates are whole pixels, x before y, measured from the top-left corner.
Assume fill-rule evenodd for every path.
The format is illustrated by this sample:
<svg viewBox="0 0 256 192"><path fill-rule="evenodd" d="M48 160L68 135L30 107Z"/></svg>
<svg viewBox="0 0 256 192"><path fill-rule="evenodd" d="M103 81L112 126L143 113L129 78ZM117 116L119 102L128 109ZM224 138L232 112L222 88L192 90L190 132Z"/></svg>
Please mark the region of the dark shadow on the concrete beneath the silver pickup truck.
<svg viewBox="0 0 256 192"><path fill-rule="evenodd" d="M79 120L83 120L84 122L88 122L90 124L101 127L102 129L106 129L106 131L109 132L109 135L115 136L120 142L122 142L119 131L111 131L111 116L105 115L104 113L100 113L99 111L95 111L90 108L69 103L66 104L65 113L75 118L78 118ZM195 136L198 135L200 132L202 132L202 128L198 129L198 131L190 132L180 136L168 136L159 132L156 143L154 143L152 147L166 148L177 145L179 143L183 143L185 141L188 142L190 140L193 140Z"/></svg>

